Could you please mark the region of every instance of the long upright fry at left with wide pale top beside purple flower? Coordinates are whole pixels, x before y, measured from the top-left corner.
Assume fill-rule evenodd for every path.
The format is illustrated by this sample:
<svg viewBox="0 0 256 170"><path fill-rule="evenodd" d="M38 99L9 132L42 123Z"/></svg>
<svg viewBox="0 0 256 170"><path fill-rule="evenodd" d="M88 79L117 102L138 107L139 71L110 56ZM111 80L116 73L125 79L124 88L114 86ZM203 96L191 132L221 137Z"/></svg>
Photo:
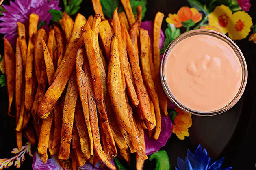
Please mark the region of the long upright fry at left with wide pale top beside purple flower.
<svg viewBox="0 0 256 170"><path fill-rule="evenodd" d="M37 33L37 23L38 15L30 14L29 16L29 41L28 41L28 50L26 57L26 67L25 67L25 108L29 112L33 105L33 95L32 95L32 86L33 86L33 50L34 42L33 39Z"/></svg>

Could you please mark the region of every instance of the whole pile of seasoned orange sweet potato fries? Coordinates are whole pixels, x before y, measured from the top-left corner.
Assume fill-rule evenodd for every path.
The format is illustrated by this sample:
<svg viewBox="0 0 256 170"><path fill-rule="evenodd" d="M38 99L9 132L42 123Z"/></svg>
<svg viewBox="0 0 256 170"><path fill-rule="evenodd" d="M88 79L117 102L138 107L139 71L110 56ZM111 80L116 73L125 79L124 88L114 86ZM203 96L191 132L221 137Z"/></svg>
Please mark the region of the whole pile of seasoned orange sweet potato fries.
<svg viewBox="0 0 256 170"><path fill-rule="evenodd" d="M141 170L148 158L144 131L158 139L161 116L167 116L159 79L164 15L156 14L150 42L140 28L141 6L135 18L129 0L121 0L125 12L115 9L106 20L100 1L92 2L94 17L78 13L73 21L64 12L60 26L48 30L37 30L39 17L31 14L28 41L24 24L17 22L16 51L4 39L8 114L14 98L17 147L23 134L38 144L43 162L48 154L71 158L74 169L99 160L114 170L110 158L119 153L129 163L131 152Z"/></svg>

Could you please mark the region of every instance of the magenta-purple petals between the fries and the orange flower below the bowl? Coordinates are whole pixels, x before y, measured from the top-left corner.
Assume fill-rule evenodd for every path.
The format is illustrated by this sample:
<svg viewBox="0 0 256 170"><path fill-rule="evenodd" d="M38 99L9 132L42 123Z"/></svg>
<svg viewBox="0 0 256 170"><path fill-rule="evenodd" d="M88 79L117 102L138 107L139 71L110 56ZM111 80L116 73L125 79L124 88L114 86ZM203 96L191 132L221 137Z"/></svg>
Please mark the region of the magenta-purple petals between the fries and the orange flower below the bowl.
<svg viewBox="0 0 256 170"><path fill-rule="evenodd" d="M148 133L144 132L146 154L150 155L160 150L161 147L165 146L167 140L170 138L172 133L172 122L169 116L161 116L161 132L158 140L148 137Z"/></svg>

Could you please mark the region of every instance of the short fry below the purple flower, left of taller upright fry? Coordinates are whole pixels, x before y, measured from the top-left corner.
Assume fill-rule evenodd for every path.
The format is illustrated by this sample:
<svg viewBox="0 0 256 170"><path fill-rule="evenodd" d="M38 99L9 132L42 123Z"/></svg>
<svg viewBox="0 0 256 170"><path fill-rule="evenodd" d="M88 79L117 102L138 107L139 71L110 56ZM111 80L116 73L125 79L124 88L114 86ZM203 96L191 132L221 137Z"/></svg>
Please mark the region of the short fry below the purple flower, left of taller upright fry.
<svg viewBox="0 0 256 170"><path fill-rule="evenodd" d="M26 56L27 56L27 43L26 43L26 30L24 24L21 22L17 22L18 26L18 34L19 34L19 45L20 45L20 50L22 54L22 65L23 68L25 69L26 66Z"/></svg>

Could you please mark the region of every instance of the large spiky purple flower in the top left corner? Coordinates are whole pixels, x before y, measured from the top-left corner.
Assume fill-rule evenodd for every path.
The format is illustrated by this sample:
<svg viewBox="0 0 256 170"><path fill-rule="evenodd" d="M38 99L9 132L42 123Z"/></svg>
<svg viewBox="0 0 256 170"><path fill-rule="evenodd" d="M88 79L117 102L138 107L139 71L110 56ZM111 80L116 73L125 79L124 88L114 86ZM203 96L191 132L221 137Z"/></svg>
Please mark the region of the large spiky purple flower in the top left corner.
<svg viewBox="0 0 256 170"><path fill-rule="evenodd" d="M28 31L29 15L35 13L39 16L40 21L49 24L52 15L48 13L49 9L60 10L58 7L59 0L15 0L10 1L9 5L3 5L7 12L2 12L0 17L0 33L5 34L4 37L14 46L17 39L17 22L25 25Z"/></svg>

